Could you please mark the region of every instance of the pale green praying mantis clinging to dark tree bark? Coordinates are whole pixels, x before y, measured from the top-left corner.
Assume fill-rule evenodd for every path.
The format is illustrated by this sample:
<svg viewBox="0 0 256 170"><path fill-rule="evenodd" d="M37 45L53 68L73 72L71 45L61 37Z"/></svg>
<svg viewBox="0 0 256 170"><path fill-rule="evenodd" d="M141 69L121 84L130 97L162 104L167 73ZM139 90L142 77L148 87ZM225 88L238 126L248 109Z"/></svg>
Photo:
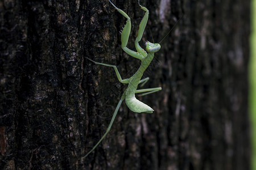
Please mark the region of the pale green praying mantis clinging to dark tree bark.
<svg viewBox="0 0 256 170"><path fill-rule="evenodd" d="M160 42L163 41L162 40L159 43L151 43L149 41L146 41L146 44L145 44L146 45L146 51L143 48L141 48L141 46L139 45L139 41L141 41L141 39L142 39L142 35L143 35L144 29L146 27L147 20L148 20L149 12L148 12L147 8L141 6L139 4L139 1L138 1L139 6L141 6L141 9L145 11L145 14L143 16L143 19L142 19L141 23L139 24L138 36L135 39L135 48L137 50L137 52L135 52L135 51L126 47L127 42L129 40L130 31L131 31L130 17L123 10L116 7L110 0L109 0L109 2L114 6L114 8L120 14L125 16L125 18L127 19L125 27L123 27L123 30L122 30L122 33L121 33L122 49L127 54L129 54L131 57L135 57L135 58L140 59L141 60L141 66L139 67L139 69L137 70L137 72L133 76L131 76L130 78L127 78L127 79L122 79L121 75L119 74L119 71L117 69L117 66L109 65L109 64L106 64L106 63L95 62L92 59L87 58L90 61L92 61L92 62L94 62L98 65L113 67L119 82L128 84L128 87L126 88L125 92L123 92L122 97L119 100L119 102L117 104L117 107L115 108L113 117L110 121L110 124L109 124L108 129L106 130L105 134L101 137L100 141L98 141L98 143L96 143L96 145L92 148L92 150L90 150L84 157L82 157L82 159L86 158L86 156L88 156L100 144L100 142L106 137L106 135L109 133L109 131L110 131L112 125L113 125L115 116L117 116L117 112L118 112L123 100L125 100L125 103L126 103L127 107L133 112L136 112L136 113L153 113L154 110L151 107L149 107L147 104L144 104L141 101L139 101L138 99L136 99L135 94L143 93L140 96L144 96L144 95L148 95L148 94L154 93L156 91L162 90L161 87L146 88L146 89L142 89L142 90L137 90L137 87L138 87L139 84L142 83L142 86L143 86L148 81L148 79L149 79L148 77L144 78L144 79L141 79L142 75L143 75L144 71L147 69L147 67L150 65L152 59L154 58L154 54L160 50L160 48L161 48ZM177 22L179 22L179 20ZM177 22L176 22L176 24L177 24ZM172 28L174 28L174 27L172 27ZM167 33L167 35L171 32L171 30Z"/></svg>

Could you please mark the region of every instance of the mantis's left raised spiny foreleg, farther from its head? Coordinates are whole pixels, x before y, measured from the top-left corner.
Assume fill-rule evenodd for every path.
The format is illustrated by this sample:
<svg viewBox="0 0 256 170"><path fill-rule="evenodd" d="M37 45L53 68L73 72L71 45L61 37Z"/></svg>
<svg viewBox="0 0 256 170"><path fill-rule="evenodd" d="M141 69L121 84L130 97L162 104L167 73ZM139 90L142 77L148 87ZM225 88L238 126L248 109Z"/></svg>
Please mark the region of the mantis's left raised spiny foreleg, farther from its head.
<svg viewBox="0 0 256 170"><path fill-rule="evenodd" d="M119 9L118 7L116 7L110 0L109 2L115 7L115 9L122 14L123 16L125 16L125 18L127 18L125 27L123 27L122 33L121 33L121 42L122 42L122 49L129 54L130 56L134 57L134 58L138 58L138 59L143 59L144 56L141 53L138 52L134 52L133 50L129 49L126 47L128 40L129 40L129 36L130 36L130 32L131 32L131 19L130 17L121 9Z"/></svg>

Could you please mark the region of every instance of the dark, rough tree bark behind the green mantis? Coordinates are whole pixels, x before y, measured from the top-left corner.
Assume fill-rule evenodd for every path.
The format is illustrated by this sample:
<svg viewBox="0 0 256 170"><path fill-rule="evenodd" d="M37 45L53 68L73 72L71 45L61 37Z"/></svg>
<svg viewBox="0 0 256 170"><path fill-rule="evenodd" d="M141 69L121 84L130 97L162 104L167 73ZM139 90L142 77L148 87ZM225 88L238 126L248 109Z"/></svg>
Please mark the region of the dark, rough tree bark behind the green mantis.
<svg viewBox="0 0 256 170"><path fill-rule="evenodd" d="M114 1L131 18L134 49L144 15L135 0ZM126 19L104 1L0 1L1 169L249 169L247 63L250 2L143 1L150 11L141 44L166 35L138 97L121 105L140 61L121 49Z"/></svg>

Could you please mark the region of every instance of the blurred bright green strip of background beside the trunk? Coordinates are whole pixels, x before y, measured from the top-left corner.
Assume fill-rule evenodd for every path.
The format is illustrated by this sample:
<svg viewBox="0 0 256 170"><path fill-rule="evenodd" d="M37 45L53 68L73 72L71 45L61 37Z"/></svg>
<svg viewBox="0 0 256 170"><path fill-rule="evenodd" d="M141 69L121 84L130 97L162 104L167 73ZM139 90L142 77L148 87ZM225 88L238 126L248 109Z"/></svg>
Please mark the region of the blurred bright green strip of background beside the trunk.
<svg viewBox="0 0 256 170"><path fill-rule="evenodd" d="M256 0L251 1L251 37L250 37L250 62L249 62L249 107L252 137L251 169L256 170Z"/></svg>

